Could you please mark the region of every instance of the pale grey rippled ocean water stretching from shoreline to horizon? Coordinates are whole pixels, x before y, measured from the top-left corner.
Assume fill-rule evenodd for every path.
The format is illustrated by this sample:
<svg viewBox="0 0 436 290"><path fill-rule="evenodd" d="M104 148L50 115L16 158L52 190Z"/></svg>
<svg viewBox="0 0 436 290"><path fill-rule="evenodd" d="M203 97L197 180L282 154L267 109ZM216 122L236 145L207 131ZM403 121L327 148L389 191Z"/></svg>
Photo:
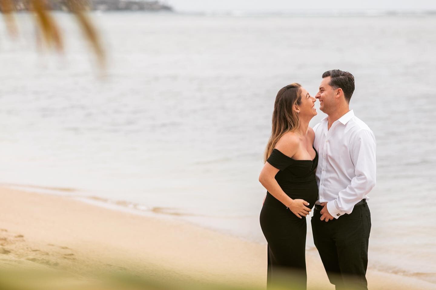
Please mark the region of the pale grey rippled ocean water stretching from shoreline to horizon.
<svg viewBox="0 0 436 290"><path fill-rule="evenodd" d="M266 243L258 176L276 93L299 82L315 95L339 68L377 138L369 266L436 283L436 17L91 16L105 78L68 14L63 55L35 42L30 15L15 41L0 26L3 185Z"/></svg>

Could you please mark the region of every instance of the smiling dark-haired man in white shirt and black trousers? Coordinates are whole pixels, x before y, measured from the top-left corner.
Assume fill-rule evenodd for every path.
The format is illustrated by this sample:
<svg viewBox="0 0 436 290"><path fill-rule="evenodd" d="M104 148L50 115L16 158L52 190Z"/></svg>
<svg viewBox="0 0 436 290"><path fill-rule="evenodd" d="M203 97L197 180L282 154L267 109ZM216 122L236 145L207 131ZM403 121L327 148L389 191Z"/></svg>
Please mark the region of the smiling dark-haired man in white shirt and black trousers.
<svg viewBox="0 0 436 290"><path fill-rule="evenodd" d="M322 77L315 97L327 117L313 128L319 155L313 241L337 290L366 290L371 230L366 201L375 185L375 137L349 108L354 76L331 70Z"/></svg>

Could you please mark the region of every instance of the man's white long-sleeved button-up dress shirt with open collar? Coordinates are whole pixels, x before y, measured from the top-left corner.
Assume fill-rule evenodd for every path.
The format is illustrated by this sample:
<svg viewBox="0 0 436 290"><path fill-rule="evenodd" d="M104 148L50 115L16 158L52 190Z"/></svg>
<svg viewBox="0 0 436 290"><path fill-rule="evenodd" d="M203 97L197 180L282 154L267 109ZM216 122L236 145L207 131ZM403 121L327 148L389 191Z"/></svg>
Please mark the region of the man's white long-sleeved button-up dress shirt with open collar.
<svg viewBox="0 0 436 290"><path fill-rule="evenodd" d="M334 218L351 213L356 203L368 200L375 185L375 136L353 110L327 129L328 117L315 127L314 146L318 151L316 172L320 204Z"/></svg>

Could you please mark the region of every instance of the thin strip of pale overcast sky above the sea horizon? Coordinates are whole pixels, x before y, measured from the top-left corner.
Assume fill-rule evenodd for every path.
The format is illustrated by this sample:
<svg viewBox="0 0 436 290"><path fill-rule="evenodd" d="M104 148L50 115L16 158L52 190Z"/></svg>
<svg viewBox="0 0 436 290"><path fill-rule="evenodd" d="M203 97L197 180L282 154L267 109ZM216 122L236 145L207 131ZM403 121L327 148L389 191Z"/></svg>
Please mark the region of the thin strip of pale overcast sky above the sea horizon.
<svg viewBox="0 0 436 290"><path fill-rule="evenodd" d="M177 11L436 10L435 0L166 0Z"/></svg>

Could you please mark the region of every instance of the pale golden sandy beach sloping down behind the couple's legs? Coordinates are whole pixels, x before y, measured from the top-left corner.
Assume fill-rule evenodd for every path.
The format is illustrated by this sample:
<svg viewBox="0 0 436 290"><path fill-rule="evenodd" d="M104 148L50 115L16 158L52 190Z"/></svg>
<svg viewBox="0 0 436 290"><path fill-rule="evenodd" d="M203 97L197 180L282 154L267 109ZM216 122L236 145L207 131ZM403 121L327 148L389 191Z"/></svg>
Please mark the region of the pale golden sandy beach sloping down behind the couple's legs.
<svg viewBox="0 0 436 290"><path fill-rule="evenodd" d="M264 287L266 246L189 223L94 206L67 196L0 189L0 263L85 273L140 275ZM162 272L163 271L163 272ZM334 289L316 252L307 253L308 289ZM434 289L414 277L368 269L370 289Z"/></svg>

